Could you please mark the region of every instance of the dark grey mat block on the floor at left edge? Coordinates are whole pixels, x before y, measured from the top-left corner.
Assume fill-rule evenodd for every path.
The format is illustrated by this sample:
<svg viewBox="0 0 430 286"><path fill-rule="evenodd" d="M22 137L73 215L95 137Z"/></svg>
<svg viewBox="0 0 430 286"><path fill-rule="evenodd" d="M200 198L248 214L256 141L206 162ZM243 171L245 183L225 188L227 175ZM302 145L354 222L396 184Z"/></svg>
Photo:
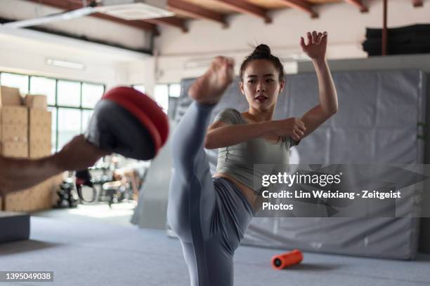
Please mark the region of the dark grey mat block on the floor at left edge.
<svg viewBox="0 0 430 286"><path fill-rule="evenodd" d="M0 243L25 240L30 236L30 214L0 212Z"/></svg>

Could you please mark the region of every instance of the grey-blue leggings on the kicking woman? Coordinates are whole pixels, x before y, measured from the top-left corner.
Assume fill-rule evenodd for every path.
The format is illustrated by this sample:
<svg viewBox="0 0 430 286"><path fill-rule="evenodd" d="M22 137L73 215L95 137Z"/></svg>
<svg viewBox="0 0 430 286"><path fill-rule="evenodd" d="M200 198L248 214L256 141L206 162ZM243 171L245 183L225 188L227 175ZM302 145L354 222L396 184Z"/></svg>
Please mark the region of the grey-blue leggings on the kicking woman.
<svg viewBox="0 0 430 286"><path fill-rule="evenodd" d="M203 144L212 108L193 102L172 139L167 219L181 240L192 286L233 285L233 255L254 216L233 183L209 172Z"/></svg>

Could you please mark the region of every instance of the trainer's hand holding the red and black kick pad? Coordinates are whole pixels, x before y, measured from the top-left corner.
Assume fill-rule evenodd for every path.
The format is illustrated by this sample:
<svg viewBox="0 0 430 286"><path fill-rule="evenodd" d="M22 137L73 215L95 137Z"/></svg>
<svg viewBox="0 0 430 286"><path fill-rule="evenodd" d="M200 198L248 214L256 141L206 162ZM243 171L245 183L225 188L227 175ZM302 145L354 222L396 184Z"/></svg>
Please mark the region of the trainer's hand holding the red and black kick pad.
<svg viewBox="0 0 430 286"><path fill-rule="evenodd" d="M54 157L61 170L84 170L109 154L87 142L84 135L78 135L65 144Z"/></svg>

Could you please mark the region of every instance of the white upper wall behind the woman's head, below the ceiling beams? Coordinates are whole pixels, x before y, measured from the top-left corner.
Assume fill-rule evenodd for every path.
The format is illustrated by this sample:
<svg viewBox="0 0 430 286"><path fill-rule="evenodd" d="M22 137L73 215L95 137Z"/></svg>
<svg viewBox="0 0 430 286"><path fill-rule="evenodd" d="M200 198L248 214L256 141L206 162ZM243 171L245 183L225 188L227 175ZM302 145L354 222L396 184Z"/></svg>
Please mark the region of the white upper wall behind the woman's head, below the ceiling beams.
<svg viewBox="0 0 430 286"><path fill-rule="evenodd" d="M317 6L320 17L311 19L306 13L294 9L283 9L271 13L273 22L249 15L228 17L229 28L208 20L189 22L188 33L163 27L156 38L159 57L157 77L141 79L148 83L174 83L183 78L202 74L211 58L228 55L235 58L237 66L249 47L267 43L273 53L280 57L301 57L300 36L313 29L329 33L329 59L367 57L361 43L365 40L366 27L382 27L382 0L365 1L369 13L360 13L358 8L346 3ZM389 27L400 27L415 23L430 22L430 1L424 0L424 7L414 8L409 0L390 0L388 9ZM287 65L287 72L297 71L296 60ZM190 64L198 67L185 68ZM236 67L238 69L238 67Z"/></svg>

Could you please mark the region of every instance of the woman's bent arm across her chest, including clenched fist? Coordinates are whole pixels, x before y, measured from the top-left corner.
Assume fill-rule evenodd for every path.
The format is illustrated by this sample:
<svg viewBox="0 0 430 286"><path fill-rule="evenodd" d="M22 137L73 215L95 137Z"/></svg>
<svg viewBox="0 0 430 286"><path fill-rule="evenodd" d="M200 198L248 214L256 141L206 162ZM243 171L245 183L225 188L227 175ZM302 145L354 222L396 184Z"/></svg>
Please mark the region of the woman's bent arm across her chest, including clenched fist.
<svg viewBox="0 0 430 286"><path fill-rule="evenodd" d="M216 121L208 128L204 148L232 146L271 133L278 136L291 136L299 141L305 131L304 123L297 118L235 125Z"/></svg>

